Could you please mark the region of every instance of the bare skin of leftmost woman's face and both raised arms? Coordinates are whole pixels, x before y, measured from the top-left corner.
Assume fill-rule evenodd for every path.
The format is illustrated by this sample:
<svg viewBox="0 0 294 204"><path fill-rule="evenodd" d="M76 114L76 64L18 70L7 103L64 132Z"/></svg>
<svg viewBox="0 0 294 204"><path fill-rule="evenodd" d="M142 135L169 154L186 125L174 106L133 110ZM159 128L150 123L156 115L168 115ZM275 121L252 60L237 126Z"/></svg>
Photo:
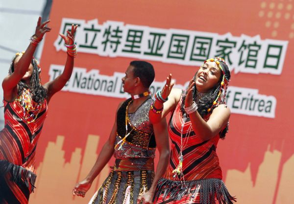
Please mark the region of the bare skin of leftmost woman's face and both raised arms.
<svg viewBox="0 0 294 204"><path fill-rule="evenodd" d="M35 36L40 40L44 37L45 33L51 30L51 28L47 27L47 24L50 22L50 20L44 23L41 22L42 19L39 17L35 31ZM77 25L72 25L72 30L71 32L67 31L67 36L59 34L64 40L65 44L72 45L74 43L74 33L76 28ZM2 82L2 88L3 97L6 101L14 101L17 98L17 92L19 89L18 83L21 80L28 85L30 84L33 72L31 60L35 50L36 45L30 43L26 48L25 53L15 59L14 72L4 78ZM43 87L48 91L47 102L49 102L52 95L57 91L60 91L65 86L66 82L70 79L73 72L73 62L73 57L68 55L63 73L53 81L44 84Z"/></svg>

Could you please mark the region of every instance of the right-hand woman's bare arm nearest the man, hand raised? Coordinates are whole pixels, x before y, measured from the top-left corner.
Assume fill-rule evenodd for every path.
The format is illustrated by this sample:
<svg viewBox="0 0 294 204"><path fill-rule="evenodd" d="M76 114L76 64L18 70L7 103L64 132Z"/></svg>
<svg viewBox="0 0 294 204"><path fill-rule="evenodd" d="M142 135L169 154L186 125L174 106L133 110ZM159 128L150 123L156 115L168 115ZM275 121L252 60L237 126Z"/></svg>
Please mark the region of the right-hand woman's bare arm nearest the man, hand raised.
<svg viewBox="0 0 294 204"><path fill-rule="evenodd" d="M163 107L162 113L153 113L153 111L149 110L149 120L155 124L160 122L163 118L167 116L168 113L172 112L177 103L181 98L182 91L180 89L172 89L174 82L172 82L172 74L167 77L166 85L163 87L161 91L161 95L163 98L169 97L169 100L162 103L159 100L155 100L154 106L156 109L161 109Z"/></svg>

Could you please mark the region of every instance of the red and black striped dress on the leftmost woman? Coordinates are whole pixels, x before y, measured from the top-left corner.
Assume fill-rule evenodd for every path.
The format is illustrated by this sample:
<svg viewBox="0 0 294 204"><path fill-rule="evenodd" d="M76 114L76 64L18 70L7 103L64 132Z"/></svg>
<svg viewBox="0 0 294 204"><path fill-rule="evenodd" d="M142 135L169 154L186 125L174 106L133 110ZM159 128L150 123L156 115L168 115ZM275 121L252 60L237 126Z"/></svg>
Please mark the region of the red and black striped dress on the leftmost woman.
<svg viewBox="0 0 294 204"><path fill-rule="evenodd" d="M22 95L20 96L22 97ZM0 203L27 204L29 194L34 189L35 151L44 120L47 116L47 101L37 104L26 115L17 100L4 101L5 126L0 132Z"/></svg>

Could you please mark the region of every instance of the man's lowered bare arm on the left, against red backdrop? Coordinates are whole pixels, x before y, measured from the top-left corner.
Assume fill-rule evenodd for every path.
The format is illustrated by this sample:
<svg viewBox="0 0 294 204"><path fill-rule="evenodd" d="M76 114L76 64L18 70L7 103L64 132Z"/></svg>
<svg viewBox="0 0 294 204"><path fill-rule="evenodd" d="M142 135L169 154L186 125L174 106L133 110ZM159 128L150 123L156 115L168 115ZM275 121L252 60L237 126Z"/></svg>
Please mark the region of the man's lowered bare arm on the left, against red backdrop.
<svg viewBox="0 0 294 204"><path fill-rule="evenodd" d="M118 109L121 107L121 105L122 103L120 103ZM94 179L98 176L98 174L101 172L104 166L108 163L109 159L112 157L114 153L114 143L115 143L116 132L117 132L116 121L117 121L117 115L111 130L110 136L108 140L105 142L105 144L103 145L102 150L100 151L94 166L92 167L92 169L90 170L86 178L83 181L78 182L74 186L73 195L85 197L85 194L90 189Z"/></svg>

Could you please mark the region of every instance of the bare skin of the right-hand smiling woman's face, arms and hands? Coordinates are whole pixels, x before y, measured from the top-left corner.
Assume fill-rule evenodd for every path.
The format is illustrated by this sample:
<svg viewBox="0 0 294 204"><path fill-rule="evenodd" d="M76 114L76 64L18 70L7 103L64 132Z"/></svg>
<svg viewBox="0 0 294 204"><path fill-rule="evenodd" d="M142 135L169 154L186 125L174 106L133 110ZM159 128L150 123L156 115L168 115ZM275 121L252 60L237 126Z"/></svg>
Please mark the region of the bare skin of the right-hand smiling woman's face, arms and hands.
<svg viewBox="0 0 294 204"><path fill-rule="evenodd" d="M190 80L188 87L188 93L185 100L185 107L190 107L193 103L193 87L196 87L199 92L209 92L220 80L221 70L216 66L214 62L207 62L199 68L197 71L195 81ZM155 100L155 108L164 110L161 114L155 114L149 111L149 120L152 124L159 122L162 118L166 117L168 113L171 113L181 99L182 91L179 89L172 89L174 82L172 81L172 74L167 77L166 85L161 91L163 98L169 97L169 100L164 104L159 100ZM190 119L193 130L197 136L203 141L206 141L216 136L221 129L228 123L230 117L230 110L224 104L220 104L216 107L208 121L205 121L201 115L195 111L190 113Z"/></svg>

